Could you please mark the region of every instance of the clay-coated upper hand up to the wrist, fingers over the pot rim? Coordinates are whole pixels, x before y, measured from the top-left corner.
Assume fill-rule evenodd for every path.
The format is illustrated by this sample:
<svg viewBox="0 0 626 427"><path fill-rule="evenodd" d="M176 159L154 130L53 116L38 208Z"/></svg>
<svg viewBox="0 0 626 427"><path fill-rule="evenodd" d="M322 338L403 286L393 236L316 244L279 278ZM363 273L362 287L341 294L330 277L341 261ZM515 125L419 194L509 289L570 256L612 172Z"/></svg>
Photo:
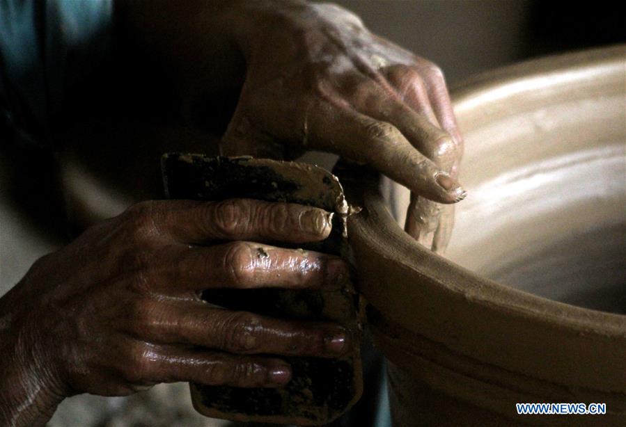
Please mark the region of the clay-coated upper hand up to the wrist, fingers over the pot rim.
<svg viewBox="0 0 626 427"><path fill-rule="evenodd" d="M444 250L453 209L439 203L465 193L455 179L462 138L441 70L338 6L258 8L224 153L324 150L368 163L412 190L407 232Z"/></svg>

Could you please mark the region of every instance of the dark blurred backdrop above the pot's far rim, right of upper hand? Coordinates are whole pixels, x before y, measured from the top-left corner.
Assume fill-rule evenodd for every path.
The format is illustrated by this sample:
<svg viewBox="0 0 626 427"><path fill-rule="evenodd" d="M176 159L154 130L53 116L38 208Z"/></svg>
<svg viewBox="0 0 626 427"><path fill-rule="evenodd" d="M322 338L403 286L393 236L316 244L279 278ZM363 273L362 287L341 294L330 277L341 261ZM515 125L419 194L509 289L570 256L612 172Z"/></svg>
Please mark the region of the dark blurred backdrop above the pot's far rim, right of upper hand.
<svg viewBox="0 0 626 427"><path fill-rule="evenodd" d="M616 1L338 0L366 26L437 63L450 86L525 58L626 41Z"/></svg>

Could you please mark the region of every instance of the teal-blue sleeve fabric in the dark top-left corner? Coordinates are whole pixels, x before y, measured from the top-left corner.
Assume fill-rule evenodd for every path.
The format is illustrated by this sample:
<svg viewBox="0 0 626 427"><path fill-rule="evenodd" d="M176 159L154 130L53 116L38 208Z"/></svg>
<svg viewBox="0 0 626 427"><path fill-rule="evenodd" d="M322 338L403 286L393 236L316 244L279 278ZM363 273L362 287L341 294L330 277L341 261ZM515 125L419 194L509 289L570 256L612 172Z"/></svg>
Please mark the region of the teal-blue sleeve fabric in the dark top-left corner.
<svg viewBox="0 0 626 427"><path fill-rule="evenodd" d="M45 140L111 49L113 0L0 0L0 126Z"/></svg>

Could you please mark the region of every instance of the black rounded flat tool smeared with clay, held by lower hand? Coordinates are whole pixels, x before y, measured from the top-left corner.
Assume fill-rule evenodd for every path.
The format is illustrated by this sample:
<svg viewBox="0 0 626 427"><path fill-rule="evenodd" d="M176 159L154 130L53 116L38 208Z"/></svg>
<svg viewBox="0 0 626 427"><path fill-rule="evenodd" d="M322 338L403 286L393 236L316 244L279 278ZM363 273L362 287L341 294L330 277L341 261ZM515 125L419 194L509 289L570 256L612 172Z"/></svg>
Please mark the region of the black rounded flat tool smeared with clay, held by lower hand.
<svg viewBox="0 0 626 427"><path fill-rule="evenodd" d="M326 240L298 247L349 257L345 224L351 209L338 179L327 170L304 163L201 154L165 154L162 170L168 198L252 198L334 212ZM361 305L351 280L338 291L211 289L204 291L202 298L228 309L280 319L336 321L349 329L357 342L361 335ZM208 417L234 421L320 425L341 416L359 400L363 384L358 344L352 354L336 359L282 358L292 366L292 380L285 387L191 384L194 407Z"/></svg>

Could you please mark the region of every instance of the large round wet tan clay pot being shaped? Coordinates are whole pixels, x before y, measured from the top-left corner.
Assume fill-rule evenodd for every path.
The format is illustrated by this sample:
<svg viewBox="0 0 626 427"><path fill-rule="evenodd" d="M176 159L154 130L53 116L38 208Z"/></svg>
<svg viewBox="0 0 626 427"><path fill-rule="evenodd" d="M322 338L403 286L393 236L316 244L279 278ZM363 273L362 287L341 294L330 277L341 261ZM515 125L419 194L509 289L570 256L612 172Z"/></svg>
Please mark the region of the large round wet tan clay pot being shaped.
<svg viewBox="0 0 626 427"><path fill-rule="evenodd" d="M395 426L626 425L625 58L543 58L454 92L469 196L447 259L402 232L376 185L343 181L363 207L349 239Z"/></svg>

